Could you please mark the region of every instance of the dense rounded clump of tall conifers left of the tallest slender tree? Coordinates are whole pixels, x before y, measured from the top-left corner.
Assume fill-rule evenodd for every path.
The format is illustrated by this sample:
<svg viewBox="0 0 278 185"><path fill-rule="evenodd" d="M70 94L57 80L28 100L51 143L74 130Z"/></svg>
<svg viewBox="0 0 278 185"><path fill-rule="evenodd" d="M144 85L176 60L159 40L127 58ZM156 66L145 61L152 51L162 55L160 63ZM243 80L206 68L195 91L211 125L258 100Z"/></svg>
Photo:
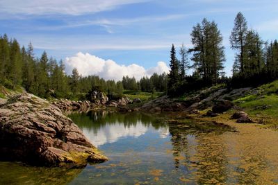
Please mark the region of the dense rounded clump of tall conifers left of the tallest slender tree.
<svg viewBox="0 0 278 185"><path fill-rule="evenodd" d="M217 82L225 61L222 35L214 21L203 19L202 24L193 27L191 33L195 74L199 74L206 82Z"/></svg>

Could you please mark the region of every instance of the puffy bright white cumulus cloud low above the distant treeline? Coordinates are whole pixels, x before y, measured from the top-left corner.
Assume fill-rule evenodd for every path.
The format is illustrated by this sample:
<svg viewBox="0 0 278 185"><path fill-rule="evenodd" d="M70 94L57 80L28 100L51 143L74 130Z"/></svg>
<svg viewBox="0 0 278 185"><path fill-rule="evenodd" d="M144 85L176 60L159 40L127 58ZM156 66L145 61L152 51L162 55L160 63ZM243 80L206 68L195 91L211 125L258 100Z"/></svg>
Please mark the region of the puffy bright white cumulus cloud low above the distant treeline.
<svg viewBox="0 0 278 185"><path fill-rule="evenodd" d="M76 53L71 58L66 58L65 71L72 73L72 69L76 68L82 76L95 75L106 80L122 80L123 76L135 77L140 80L143 76L152 76L153 73L168 73L169 68L165 62L157 62L156 67L145 69L138 64L130 64L128 66L117 64L113 60L104 60L89 53Z"/></svg>

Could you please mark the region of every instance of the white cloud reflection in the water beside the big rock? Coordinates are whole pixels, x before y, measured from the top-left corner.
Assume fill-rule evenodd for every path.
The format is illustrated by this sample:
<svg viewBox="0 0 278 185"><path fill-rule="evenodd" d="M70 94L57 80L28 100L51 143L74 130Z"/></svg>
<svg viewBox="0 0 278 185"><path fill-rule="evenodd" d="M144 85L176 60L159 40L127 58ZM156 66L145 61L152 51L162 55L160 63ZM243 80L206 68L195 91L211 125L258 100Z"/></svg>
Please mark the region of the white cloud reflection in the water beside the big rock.
<svg viewBox="0 0 278 185"><path fill-rule="evenodd" d="M96 146L101 146L105 143L114 143L118 139L125 136L138 137L147 132L148 128L140 121L136 124L126 127L122 123L106 124L100 127L97 132L92 132L86 128L83 128L83 133L88 139Z"/></svg>

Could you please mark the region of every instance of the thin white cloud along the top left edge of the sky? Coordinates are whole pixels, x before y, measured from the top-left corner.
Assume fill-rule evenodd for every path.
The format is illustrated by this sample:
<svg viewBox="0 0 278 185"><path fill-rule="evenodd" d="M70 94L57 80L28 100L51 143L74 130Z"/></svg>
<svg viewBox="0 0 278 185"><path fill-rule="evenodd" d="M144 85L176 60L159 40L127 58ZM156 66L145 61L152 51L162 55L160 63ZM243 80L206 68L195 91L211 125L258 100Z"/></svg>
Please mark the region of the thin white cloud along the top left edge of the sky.
<svg viewBox="0 0 278 185"><path fill-rule="evenodd" d="M0 0L0 12L12 15L83 15L144 1L147 0Z"/></svg>

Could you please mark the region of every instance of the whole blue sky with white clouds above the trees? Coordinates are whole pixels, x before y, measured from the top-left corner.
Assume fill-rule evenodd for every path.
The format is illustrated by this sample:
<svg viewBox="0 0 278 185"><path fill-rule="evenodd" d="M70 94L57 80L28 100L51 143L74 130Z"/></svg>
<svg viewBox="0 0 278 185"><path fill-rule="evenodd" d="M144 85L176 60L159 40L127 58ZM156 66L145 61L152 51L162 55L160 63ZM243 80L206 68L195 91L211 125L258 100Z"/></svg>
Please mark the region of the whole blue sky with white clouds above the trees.
<svg viewBox="0 0 278 185"><path fill-rule="evenodd" d="M139 79L169 71L172 44L192 47L190 32L206 17L222 33L230 76L236 14L271 41L278 39L277 8L277 0L0 0L0 35L63 60L68 74L76 67L82 76Z"/></svg>

